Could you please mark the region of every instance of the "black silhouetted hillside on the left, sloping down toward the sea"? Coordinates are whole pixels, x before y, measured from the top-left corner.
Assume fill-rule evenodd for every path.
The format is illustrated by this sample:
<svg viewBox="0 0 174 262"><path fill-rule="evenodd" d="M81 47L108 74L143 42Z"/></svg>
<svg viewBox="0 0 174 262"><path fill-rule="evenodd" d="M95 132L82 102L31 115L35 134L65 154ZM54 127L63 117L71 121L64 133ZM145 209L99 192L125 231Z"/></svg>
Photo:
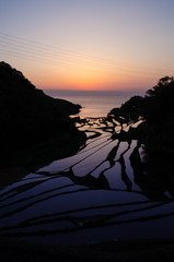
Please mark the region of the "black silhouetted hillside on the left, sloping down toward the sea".
<svg viewBox="0 0 174 262"><path fill-rule="evenodd" d="M45 95L20 71L0 62L0 151L3 155L48 143L50 138L58 140L60 147L67 144L68 138L81 143L83 135L69 118L79 109L79 105ZM3 157L0 164L1 160Z"/></svg>

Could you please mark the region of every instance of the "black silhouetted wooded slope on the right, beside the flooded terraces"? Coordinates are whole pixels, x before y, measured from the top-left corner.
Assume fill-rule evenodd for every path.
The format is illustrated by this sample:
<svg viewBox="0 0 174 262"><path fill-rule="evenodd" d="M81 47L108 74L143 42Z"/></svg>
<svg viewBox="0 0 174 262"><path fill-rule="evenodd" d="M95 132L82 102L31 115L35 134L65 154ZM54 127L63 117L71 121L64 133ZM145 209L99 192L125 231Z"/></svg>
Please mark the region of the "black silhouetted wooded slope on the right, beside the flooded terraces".
<svg viewBox="0 0 174 262"><path fill-rule="evenodd" d="M143 122L138 129L129 129L116 134L120 140L138 140L138 147L143 147L144 164L140 169L150 176L166 178L171 189L174 187L174 79L164 76L144 97L135 96L120 108L114 108L108 117L121 122ZM137 147L137 148L138 148ZM136 163L137 154L132 154ZM137 163L138 165L138 163ZM139 172L140 172L139 169ZM170 186L167 184L167 187Z"/></svg>

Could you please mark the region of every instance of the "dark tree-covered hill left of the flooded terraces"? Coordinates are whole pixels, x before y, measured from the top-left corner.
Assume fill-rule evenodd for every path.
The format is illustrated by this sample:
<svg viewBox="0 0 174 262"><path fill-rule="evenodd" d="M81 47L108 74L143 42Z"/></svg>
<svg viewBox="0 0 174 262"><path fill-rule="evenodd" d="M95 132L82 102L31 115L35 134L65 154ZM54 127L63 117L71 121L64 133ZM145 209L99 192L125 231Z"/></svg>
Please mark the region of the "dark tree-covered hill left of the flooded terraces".
<svg viewBox="0 0 174 262"><path fill-rule="evenodd" d="M0 166L49 162L77 151L85 135L69 115L80 108L45 95L20 71L0 62Z"/></svg>

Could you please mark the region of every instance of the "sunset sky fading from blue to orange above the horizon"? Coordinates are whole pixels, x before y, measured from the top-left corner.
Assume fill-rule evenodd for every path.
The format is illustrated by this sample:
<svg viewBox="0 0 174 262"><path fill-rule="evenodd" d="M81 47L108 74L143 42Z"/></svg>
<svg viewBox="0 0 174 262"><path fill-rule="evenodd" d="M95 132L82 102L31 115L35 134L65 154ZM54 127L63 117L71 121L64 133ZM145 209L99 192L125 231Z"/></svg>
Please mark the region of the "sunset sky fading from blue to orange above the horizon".
<svg viewBox="0 0 174 262"><path fill-rule="evenodd" d="M148 90L174 74L174 0L0 0L0 61L39 88Z"/></svg>

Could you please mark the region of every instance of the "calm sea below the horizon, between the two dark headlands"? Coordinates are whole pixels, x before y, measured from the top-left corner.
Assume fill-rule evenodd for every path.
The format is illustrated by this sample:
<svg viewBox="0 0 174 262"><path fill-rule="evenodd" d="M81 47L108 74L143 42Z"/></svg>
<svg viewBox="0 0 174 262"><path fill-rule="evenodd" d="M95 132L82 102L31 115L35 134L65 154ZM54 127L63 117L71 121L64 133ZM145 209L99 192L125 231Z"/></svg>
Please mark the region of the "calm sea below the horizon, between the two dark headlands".
<svg viewBox="0 0 174 262"><path fill-rule="evenodd" d="M55 98L61 98L82 106L80 117L106 117L115 107L120 107L134 95L142 92L62 92L46 90L45 93Z"/></svg>

